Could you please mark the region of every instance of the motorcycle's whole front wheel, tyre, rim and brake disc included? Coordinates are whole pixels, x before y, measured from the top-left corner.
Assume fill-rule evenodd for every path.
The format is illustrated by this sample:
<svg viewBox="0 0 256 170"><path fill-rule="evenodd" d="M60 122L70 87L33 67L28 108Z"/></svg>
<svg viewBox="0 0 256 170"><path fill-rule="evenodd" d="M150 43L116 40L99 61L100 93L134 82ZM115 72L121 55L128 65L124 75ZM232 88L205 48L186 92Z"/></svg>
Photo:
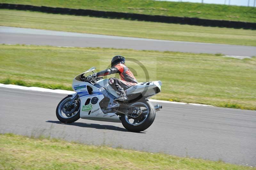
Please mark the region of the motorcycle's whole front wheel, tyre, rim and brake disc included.
<svg viewBox="0 0 256 170"><path fill-rule="evenodd" d="M80 100L71 102L71 96L63 98L56 108L56 116L62 123L73 123L80 118Z"/></svg>

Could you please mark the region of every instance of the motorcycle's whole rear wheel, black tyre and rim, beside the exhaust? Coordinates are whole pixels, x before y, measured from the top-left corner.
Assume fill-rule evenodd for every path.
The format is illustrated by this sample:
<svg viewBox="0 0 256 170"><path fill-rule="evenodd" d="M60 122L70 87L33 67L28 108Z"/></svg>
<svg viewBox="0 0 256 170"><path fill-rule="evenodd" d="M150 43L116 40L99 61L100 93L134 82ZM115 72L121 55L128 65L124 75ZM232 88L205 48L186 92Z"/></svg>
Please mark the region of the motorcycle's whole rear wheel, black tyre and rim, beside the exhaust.
<svg viewBox="0 0 256 170"><path fill-rule="evenodd" d="M120 119L124 128L132 132L140 132L149 128L156 117L156 110L154 105L149 101L143 101L135 102L130 106L140 107L142 113L136 118L122 114Z"/></svg>

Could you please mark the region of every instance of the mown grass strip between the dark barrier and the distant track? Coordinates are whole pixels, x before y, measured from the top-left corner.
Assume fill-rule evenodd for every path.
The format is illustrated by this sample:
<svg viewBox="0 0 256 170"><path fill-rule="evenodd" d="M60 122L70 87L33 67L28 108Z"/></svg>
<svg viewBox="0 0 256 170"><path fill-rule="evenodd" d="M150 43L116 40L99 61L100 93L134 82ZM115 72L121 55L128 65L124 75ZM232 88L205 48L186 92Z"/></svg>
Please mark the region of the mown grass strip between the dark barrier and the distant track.
<svg viewBox="0 0 256 170"><path fill-rule="evenodd" d="M0 25L173 41L256 46L256 30L0 10Z"/></svg>

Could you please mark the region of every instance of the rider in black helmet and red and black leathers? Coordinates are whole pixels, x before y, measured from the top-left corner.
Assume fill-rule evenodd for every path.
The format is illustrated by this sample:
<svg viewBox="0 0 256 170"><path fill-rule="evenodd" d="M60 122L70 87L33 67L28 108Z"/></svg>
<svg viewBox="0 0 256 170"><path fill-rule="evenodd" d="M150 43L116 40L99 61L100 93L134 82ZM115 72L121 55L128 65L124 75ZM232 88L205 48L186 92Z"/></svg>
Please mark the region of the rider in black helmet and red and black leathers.
<svg viewBox="0 0 256 170"><path fill-rule="evenodd" d="M125 58L123 56L113 57L111 60L111 68L94 73L92 74L92 77L97 78L115 73L119 73L121 80L113 77L108 80L108 84L116 89L116 93L120 95L120 97L116 99L117 101L126 101L127 97L124 89L128 89L129 87L136 85L138 81L136 81L130 69L125 66Z"/></svg>

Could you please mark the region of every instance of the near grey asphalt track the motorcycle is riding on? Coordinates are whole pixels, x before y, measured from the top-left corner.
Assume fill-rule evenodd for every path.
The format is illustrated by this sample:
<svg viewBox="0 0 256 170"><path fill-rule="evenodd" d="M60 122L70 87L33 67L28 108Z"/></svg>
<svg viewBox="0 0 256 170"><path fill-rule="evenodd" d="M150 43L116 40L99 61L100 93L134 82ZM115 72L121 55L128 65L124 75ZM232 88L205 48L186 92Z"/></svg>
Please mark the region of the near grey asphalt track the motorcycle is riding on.
<svg viewBox="0 0 256 170"><path fill-rule="evenodd" d="M151 127L132 133L121 123L79 119L61 124L55 109L65 96L0 88L0 133L44 135L256 166L255 111L163 103Z"/></svg>

